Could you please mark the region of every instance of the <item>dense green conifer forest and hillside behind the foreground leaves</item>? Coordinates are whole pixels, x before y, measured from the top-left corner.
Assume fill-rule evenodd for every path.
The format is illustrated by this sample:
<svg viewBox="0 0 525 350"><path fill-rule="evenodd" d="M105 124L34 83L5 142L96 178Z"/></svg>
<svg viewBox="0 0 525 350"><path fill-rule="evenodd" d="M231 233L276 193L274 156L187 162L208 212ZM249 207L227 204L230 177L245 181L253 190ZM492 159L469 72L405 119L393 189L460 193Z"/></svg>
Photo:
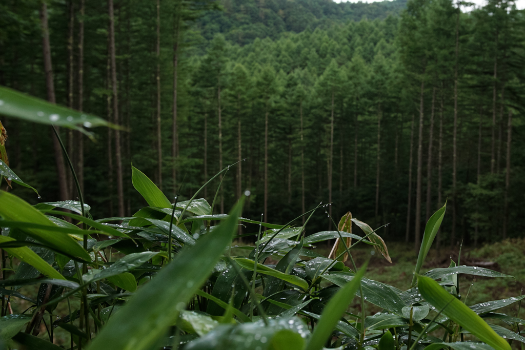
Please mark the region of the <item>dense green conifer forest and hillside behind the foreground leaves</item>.
<svg viewBox="0 0 525 350"><path fill-rule="evenodd" d="M168 198L180 188L187 199L240 161L214 213L245 190L243 216L266 222L323 201L334 217L390 222L383 238L417 246L447 200L438 244L520 236L524 13L497 0L470 13L457 6L9 0L0 84L50 99L51 81L57 103L125 128L94 130L95 142L62 131L93 216L144 205L131 163ZM10 165L41 200L75 198L50 131L2 122ZM209 203L218 185L206 189ZM327 229L324 219L311 222Z"/></svg>

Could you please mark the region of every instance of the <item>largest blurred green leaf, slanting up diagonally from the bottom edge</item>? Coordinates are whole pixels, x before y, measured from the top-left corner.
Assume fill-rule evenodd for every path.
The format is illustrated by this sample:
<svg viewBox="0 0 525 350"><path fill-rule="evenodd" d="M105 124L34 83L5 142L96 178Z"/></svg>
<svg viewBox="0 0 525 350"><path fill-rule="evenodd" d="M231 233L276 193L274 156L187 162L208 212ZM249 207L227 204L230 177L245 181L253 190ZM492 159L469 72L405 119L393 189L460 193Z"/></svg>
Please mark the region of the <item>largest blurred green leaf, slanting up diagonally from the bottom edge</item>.
<svg viewBox="0 0 525 350"><path fill-rule="evenodd" d="M149 349L171 327L212 271L237 231L244 200L213 232L183 250L144 285L88 347L91 350ZM140 317L138 317L140 315ZM144 322L148 320L148 322Z"/></svg>

